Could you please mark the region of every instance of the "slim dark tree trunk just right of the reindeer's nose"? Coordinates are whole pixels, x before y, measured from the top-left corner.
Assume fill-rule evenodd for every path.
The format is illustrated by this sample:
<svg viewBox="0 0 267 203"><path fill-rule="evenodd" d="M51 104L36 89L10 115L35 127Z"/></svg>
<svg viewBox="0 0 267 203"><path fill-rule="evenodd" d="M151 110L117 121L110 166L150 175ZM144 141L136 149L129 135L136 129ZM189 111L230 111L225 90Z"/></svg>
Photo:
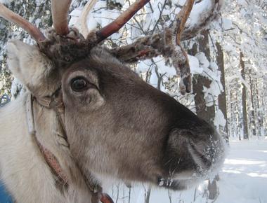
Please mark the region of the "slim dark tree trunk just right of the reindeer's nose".
<svg viewBox="0 0 267 203"><path fill-rule="evenodd" d="M229 135L228 135L228 117L227 117L227 106L226 106L226 79L225 79L225 73L224 73L224 60L223 60L223 50L221 48L220 43L216 43L217 48L217 55L216 60L217 64L219 66L219 70L221 71L221 84L223 85L223 92L218 97L219 102L219 109L223 113L224 119L226 120L226 125L223 129L225 132L225 139L227 142L229 142Z"/></svg>

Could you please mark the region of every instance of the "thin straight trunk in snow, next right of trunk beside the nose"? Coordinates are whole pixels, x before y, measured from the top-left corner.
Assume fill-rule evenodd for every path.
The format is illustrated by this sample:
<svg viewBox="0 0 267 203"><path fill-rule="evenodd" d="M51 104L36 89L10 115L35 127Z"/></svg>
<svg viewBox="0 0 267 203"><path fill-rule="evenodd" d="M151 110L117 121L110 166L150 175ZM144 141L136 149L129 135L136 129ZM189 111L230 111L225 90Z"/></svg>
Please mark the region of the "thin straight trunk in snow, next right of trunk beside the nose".
<svg viewBox="0 0 267 203"><path fill-rule="evenodd" d="M245 80L245 62L243 61L244 54L240 51L240 66L241 76ZM249 139L249 130L247 125L247 90L244 83L242 83L242 113L243 113L243 139Z"/></svg>

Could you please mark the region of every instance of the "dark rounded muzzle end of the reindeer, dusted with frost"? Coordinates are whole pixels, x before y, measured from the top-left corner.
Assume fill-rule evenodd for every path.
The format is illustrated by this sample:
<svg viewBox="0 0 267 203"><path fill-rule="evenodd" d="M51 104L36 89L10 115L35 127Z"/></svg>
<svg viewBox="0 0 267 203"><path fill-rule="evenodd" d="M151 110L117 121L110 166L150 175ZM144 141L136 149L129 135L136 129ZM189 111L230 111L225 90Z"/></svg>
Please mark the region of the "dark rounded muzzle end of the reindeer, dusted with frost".
<svg viewBox="0 0 267 203"><path fill-rule="evenodd" d="M168 140L168 160L171 170L207 174L223 161L224 144L209 125L195 129L173 130Z"/></svg>

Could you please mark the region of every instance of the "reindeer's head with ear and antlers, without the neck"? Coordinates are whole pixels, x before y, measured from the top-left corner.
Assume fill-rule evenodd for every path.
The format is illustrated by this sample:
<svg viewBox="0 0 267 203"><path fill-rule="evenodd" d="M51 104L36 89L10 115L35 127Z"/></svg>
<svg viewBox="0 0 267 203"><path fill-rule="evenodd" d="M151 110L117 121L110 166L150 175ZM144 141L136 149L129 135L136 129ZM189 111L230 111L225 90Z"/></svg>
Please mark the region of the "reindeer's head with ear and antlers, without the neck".
<svg viewBox="0 0 267 203"><path fill-rule="evenodd" d="M99 44L146 2L133 4L111 25L86 38L67 27L70 1L52 1L55 30L48 31L46 38L0 4L2 16L37 40L37 45L9 42L8 65L39 104L51 98L60 101L70 153L84 173L182 190L223 160L221 137L185 106L141 80L124 62L171 57L181 70L181 90L190 91L190 72L184 69L188 63L186 57L175 58L184 52L174 42L180 46L181 38L187 38L181 35L182 16L188 17L193 1L186 1L176 25L162 33L111 50Z"/></svg>

